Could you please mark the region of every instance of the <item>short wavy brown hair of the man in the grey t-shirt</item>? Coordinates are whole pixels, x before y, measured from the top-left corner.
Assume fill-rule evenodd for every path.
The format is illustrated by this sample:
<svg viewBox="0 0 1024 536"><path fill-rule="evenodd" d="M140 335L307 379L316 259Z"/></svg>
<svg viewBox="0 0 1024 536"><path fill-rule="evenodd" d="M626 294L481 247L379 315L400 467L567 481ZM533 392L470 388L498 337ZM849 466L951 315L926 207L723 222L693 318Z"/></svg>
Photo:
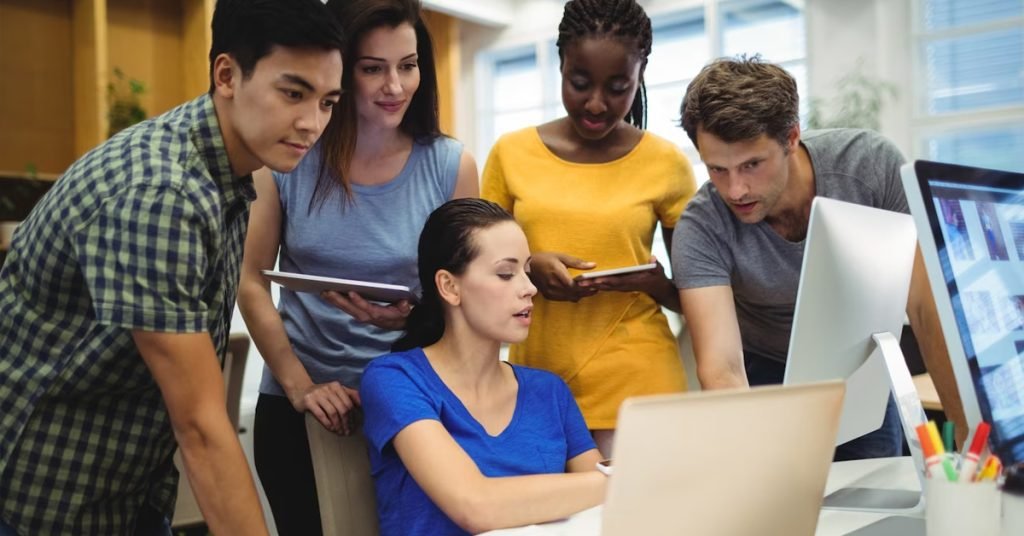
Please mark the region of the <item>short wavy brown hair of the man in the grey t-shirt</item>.
<svg viewBox="0 0 1024 536"><path fill-rule="evenodd" d="M800 124L797 81L760 55L716 59L690 81L680 115L694 147L697 128L729 143L768 134L786 147Z"/></svg>

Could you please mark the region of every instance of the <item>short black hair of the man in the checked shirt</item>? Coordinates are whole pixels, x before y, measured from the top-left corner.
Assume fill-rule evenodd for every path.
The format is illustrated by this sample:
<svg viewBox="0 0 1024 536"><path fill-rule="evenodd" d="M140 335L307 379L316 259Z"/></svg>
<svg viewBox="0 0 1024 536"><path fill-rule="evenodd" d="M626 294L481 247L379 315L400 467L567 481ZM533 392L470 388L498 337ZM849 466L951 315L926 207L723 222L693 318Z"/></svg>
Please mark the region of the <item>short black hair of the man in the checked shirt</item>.
<svg viewBox="0 0 1024 536"><path fill-rule="evenodd" d="M213 61L229 54L249 78L274 46L341 50L342 29L321 0L217 0L211 24L210 93Z"/></svg>

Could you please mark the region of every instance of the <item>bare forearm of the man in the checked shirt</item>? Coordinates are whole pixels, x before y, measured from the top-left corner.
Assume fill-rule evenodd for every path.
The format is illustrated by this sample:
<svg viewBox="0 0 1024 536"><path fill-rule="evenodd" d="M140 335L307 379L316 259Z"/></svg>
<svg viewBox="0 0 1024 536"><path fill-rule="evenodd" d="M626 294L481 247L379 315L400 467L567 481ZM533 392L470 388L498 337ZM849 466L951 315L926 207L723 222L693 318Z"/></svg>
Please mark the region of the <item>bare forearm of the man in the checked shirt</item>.
<svg viewBox="0 0 1024 536"><path fill-rule="evenodd" d="M242 446L226 414L175 425L188 482L213 534L267 534Z"/></svg>

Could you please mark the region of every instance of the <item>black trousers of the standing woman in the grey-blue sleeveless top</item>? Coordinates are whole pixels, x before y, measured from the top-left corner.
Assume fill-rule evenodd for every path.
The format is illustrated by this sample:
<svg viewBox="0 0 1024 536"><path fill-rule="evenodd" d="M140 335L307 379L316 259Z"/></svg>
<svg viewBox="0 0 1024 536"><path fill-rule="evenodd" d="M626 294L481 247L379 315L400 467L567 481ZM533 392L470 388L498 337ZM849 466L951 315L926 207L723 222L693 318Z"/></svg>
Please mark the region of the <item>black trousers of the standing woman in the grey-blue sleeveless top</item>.
<svg viewBox="0 0 1024 536"><path fill-rule="evenodd" d="M305 415L295 411L286 397L260 394L253 428L256 472L278 534L322 534Z"/></svg>

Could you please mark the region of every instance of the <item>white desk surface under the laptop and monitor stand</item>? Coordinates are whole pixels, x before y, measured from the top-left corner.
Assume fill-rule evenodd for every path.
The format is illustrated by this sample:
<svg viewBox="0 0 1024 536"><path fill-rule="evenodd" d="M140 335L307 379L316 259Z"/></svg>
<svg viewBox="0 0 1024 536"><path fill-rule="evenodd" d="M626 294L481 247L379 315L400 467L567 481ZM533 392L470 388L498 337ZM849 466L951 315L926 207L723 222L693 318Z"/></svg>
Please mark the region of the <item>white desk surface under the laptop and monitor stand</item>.
<svg viewBox="0 0 1024 536"><path fill-rule="evenodd" d="M910 457L833 463L828 470L828 482L825 484L825 495L850 487L921 490ZM890 514L822 508L818 516L818 528L815 534L842 536L888 516ZM922 517L924 513L916 516ZM581 511L559 522L503 529L485 534L487 536L597 536L601 534L601 506Z"/></svg>

